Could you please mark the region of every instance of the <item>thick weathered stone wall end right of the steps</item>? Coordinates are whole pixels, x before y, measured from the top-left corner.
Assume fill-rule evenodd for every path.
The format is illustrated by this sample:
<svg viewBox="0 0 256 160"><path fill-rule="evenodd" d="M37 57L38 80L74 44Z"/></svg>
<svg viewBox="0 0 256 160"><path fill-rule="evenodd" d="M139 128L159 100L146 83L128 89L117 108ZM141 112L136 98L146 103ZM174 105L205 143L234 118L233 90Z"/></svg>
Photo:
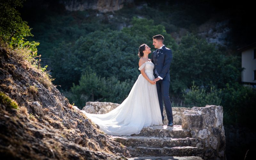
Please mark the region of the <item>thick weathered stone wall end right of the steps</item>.
<svg viewBox="0 0 256 160"><path fill-rule="evenodd" d="M196 147L203 150L204 159L226 159L226 138L223 126L223 108L206 105L193 107L182 115L182 128L191 131Z"/></svg>

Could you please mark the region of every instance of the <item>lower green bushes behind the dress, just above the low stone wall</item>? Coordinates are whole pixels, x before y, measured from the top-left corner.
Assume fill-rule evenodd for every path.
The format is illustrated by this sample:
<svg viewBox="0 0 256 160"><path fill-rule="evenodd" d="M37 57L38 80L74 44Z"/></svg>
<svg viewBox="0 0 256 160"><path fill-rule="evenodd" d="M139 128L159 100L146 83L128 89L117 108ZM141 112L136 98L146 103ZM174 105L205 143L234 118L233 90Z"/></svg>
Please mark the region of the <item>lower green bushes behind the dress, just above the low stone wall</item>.
<svg viewBox="0 0 256 160"><path fill-rule="evenodd" d="M79 84L71 87L71 98L82 108L87 101L111 101L121 103L131 90L130 80L120 82L115 76L101 77L95 72L87 71L79 80Z"/></svg>

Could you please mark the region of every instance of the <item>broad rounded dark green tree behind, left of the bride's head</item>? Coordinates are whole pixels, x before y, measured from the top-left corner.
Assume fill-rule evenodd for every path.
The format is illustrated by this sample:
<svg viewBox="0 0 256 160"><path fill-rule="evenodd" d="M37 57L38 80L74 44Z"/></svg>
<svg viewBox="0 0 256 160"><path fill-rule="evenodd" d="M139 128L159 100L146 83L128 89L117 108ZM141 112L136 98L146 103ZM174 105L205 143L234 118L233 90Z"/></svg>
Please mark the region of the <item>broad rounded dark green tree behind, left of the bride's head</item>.
<svg viewBox="0 0 256 160"><path fill-rule="evenodd" d="M63 42L52 57L60 60L52 66L55 84L69 89L88 68L101 77L135 80L139 75L139 46L130 35L109 29L81 36L74 45Z"/></svg>

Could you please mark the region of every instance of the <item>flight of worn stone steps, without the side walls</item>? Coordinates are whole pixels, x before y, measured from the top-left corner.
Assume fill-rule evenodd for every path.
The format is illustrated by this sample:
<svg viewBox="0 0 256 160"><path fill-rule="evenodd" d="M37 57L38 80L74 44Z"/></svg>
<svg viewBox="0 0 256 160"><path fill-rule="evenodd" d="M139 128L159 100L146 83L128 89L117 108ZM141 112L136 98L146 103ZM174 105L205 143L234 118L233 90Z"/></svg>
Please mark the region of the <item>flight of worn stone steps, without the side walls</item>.
<svg viewBox="0 0 256 160"><path fill-rule="evenodd" d="M110 137L127 147L130 159L202 159L197 156L196 139L181 125L150 126L137 135Z"/></svg>

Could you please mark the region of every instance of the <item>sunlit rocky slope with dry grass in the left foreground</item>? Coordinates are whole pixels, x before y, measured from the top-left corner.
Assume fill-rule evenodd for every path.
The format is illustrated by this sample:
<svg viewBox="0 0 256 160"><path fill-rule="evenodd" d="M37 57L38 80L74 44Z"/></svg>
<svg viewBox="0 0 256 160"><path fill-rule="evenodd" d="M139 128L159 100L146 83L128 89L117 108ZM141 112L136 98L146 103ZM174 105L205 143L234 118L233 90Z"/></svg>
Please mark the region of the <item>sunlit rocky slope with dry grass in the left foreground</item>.
<svg viewBox="0 0 256 160"><path fill-rule="evenodd" d="M69 104L26 51L0 46L0 153L8 159L115 159L124 146Z"/></svg>

